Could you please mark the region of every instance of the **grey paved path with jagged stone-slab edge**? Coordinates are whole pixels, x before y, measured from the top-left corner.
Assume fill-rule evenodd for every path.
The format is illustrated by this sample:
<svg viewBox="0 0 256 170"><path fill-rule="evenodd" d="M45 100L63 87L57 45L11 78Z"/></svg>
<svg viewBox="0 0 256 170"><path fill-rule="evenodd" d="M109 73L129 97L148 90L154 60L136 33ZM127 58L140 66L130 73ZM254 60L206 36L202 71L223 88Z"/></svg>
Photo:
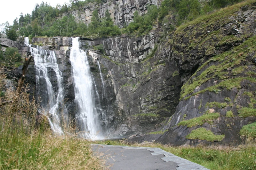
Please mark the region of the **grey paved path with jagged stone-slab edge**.
<svg viewBox="0 0 256 170"><path fill-rule="evenodd" d="M209 170L160 148L92 145L111 170Z"/></svg>

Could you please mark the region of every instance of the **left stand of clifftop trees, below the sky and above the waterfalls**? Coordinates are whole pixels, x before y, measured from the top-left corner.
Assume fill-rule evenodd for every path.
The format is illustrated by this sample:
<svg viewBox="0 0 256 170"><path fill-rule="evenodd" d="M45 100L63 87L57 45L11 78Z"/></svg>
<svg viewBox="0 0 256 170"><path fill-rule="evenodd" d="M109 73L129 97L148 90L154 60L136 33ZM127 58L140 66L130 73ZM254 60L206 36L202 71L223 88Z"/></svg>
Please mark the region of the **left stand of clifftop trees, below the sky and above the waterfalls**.
<svg viewBox="0 0 256 170"><path fill-rule="evenodd" d="M47 3L36 4L32 14L15 19L13 25L6 29L9 39L17 39L17 31L20 36L115 36L120 35L118 26L114 25L110 14L106 11L106 17L99 18L98 10L93 12L92 23L88 26L83 22L76 23L72 14L64 16L63 13L79 10L89 3L101 4L102 0L72 0L70 4L59 4L54 8ZM62 16L62 17L59 17Z"/></svg>

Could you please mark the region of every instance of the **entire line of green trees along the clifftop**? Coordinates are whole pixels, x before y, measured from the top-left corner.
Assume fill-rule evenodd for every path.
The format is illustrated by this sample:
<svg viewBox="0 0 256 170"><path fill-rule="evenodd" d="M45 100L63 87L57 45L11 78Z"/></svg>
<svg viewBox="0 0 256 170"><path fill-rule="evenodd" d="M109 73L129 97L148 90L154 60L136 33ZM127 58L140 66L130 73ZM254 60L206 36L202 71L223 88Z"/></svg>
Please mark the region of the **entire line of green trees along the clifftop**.
<svg viewBox="0 0 256 170"><path fill-rule="evenodd" d="M140 16L134 12L134 20L126 25L122 33L132 35L145 35L153 29L153 25L162 25L168 33L175 26L185 21L193 20L200 15L209 13L215 9L235 4L241 0L164 0L159 8L156 5L148 5L147 14ZM108 10L103 18L99 17L98 9L92 13L92 22L86 25L83 22L76 23L72 14L65 16L68 11L78 10L87 4L99 6L103 0L72 0L69 4L58 4L55 8L47 3L36 4L31 14L20 14L20 18L13 21L13 25L5 23L6 35L9 39L16 40L18 36L93 36L107 37L120 35L121 30L114 25ZM169 19L171 16L173 19Z"/></svg>

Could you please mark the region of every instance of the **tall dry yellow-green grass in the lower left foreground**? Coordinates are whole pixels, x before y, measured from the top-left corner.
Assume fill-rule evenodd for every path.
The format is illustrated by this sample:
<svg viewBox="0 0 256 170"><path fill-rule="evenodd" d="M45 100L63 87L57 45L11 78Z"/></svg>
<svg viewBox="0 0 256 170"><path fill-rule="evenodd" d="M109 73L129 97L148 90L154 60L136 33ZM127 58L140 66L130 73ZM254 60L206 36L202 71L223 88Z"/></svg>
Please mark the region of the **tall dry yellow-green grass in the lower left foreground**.
<svg viewBox="0 0 256 170"><path fill-rule="evenodd" d="M47 118L36 126L39 106L29 100L28 87L16 95L5 89L4 79L0 69L0 169L105 169L93 155L90 141L70 133L52 135Z"/></svg>

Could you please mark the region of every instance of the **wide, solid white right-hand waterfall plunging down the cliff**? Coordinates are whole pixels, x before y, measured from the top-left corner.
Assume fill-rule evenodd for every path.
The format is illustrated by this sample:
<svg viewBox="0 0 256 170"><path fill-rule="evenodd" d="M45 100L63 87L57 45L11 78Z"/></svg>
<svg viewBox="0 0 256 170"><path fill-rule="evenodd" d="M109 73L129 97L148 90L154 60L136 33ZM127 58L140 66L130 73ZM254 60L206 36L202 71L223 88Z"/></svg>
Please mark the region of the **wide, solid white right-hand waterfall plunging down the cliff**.
<svg viewBox="0 0 256 170"><path fill-rule="evenodd" d="M93 95L93 79L86 53L79 49L79 37L72 38L70 61L78 112L76 122L83 138L102 139L101 127Z"/></svg>

